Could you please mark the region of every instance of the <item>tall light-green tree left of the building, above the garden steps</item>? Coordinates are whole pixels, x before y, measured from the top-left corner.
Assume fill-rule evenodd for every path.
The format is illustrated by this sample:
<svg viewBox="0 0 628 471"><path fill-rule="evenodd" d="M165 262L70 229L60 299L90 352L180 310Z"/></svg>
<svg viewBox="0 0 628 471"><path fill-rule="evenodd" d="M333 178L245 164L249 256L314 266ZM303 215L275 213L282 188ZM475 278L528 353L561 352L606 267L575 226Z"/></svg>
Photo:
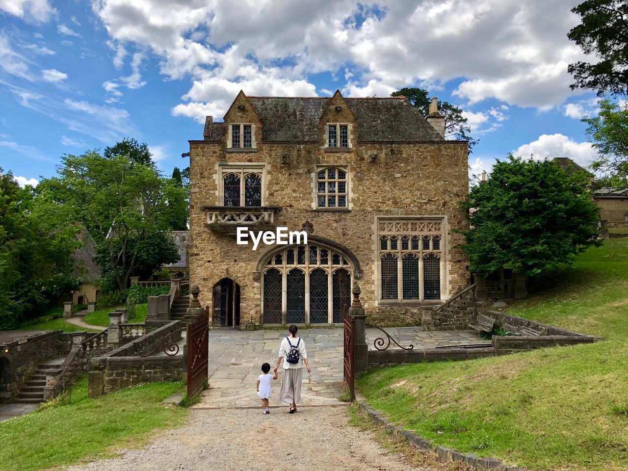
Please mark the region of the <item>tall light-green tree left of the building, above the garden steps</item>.
<svg viewBox="0 0 628 471"><path fill-rule="evenodd" d="M40 184L57 202L71 207L99 250L106 250L107 263L100 259L101 268L115 277L121 290L138 266L145 241L169 228L170 179L151 165L136 164L127 154L65 154L59 176ZM173 261L165 252L161 255L161 263Z"/></svg>

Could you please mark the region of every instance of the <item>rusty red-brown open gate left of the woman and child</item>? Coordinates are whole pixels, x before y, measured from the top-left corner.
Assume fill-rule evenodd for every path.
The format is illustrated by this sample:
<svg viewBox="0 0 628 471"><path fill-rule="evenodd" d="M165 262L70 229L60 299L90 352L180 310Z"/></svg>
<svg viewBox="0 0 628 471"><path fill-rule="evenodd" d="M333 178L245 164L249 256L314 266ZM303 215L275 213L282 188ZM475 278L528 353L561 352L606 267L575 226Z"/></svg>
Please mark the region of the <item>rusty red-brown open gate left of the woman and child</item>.
<svg viewBox="0 0 628 471"><path fill-rule="evenodd" d="M188 399L203 390L207 382L209 354L209 311L207 308L188 324Z"/></svg>

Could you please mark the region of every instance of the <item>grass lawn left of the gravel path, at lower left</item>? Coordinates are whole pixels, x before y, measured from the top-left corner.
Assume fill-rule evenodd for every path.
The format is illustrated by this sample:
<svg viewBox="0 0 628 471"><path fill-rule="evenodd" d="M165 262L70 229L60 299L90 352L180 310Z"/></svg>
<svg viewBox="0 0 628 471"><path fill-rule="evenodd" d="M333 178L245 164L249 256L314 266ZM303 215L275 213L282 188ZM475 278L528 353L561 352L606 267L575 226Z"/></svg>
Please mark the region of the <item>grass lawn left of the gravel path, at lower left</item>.
<svg viewBox="0 0 628 471"><path fill-rule="evenodd" d="M151 431L183 423L186 409L161 404L180 389L180 382L155 383L89 399L84 378L72 404L0 422L0 469L47 469L140 445Z"/></svg>

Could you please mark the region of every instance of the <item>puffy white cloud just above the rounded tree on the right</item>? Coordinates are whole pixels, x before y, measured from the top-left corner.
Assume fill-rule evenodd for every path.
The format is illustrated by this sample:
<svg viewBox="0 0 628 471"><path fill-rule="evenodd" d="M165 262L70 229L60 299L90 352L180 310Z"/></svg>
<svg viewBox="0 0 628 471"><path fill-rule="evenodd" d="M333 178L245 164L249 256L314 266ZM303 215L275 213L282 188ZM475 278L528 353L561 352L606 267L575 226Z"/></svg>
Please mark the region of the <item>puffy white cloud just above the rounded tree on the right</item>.
<svg viewBox="0 0 628 471"><path fill-rule="evenodd" d="M519 146L513 153L524 158L533 156L536 160L568 157L582 166L589 165L597 157L591 143L577 143L563 134L543 134L536 141Z"/></svg>

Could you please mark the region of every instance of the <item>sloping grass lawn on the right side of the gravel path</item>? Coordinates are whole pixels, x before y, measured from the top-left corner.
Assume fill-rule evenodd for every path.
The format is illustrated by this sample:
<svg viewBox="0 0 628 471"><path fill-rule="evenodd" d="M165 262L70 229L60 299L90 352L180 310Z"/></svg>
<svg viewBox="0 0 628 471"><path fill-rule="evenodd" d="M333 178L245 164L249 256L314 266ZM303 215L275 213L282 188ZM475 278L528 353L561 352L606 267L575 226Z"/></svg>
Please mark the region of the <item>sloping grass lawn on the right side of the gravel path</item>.
<svg viewBox="0 0 628 471"><path fill-rule="evenodd" d="M400 365L358 387L436 445L534 470L628 469L627 261L628 239L605 241L509 309L607 342Z"/></svg>

